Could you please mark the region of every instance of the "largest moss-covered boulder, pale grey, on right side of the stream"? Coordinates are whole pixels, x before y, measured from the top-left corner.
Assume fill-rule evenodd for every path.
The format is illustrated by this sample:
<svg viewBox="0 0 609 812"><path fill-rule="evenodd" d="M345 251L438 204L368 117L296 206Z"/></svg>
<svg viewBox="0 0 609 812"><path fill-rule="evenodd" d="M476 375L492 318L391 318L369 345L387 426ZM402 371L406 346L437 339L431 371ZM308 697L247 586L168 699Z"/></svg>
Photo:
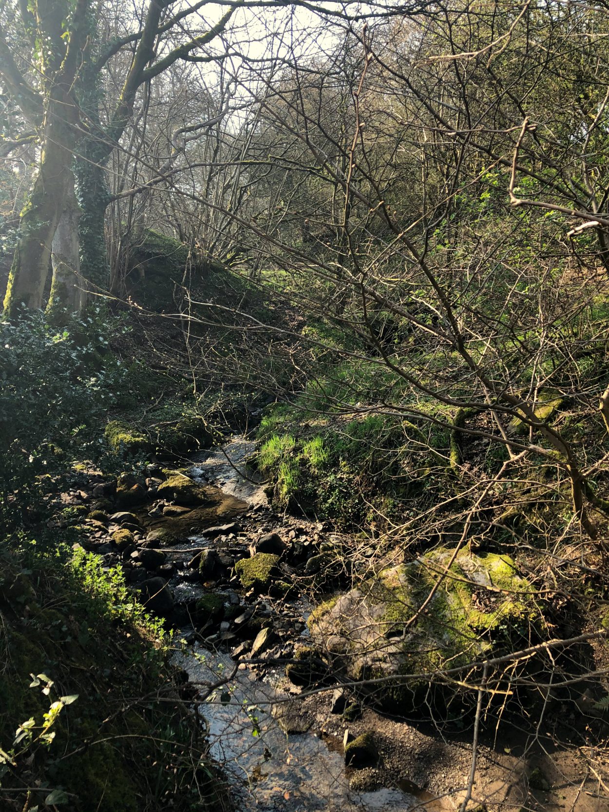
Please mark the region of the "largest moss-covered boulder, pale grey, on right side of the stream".
<svg viewBox="0 0 609 812"><path fill-rule="evenodd" d="M314 644L352 680L380 679L385 706L412 711L475 696L443 672L517 650L538 637L542 613L508 555L442 547L385 569L309 618ZM465 669L463 676L467 674Z"/></svg>

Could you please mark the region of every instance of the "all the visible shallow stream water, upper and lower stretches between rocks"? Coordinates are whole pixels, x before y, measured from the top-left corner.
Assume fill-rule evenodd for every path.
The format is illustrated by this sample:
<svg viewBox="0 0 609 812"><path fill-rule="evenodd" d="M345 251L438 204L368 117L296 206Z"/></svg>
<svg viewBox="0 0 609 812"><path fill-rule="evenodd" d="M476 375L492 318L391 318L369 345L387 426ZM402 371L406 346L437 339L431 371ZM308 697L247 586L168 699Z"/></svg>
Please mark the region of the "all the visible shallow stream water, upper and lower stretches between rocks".
<svg viewBox="0 0 609 812"><path fill-rule="evenodd" d="M210 545L205 527L252 509L255 515L266 505L261 483L246 465L252 451L253 443L238 437L192 458L191 476L222 493L217 509L198 516L201 530L189 537L193 549ZM196 586L184 582L175 590L197 594ZM293 610L306 616L301 599L283 603L284 613ZM301 626L300 637L305 641L307 629ZM214 682L235 667L230 650L221 643L214 649L194 643L176 659L193 683ZM237 810L409 812L422 808L436 812L445 808L427 793L413 795L400 788L354 792L349 786L353 771L344 765L342 741L307 729L298 717L297 703L281 687L282 677L279 670L261 673L242 663L228 685L200 708L209 729L211 755L231 779Z"/></svg>

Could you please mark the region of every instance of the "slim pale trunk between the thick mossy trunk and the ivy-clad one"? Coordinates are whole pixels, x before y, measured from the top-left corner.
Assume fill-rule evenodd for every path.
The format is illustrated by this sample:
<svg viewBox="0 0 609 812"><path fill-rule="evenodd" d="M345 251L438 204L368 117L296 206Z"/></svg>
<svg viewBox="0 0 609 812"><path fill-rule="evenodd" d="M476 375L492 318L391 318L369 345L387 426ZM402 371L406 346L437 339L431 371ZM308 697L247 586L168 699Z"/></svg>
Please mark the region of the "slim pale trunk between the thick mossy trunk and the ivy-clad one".
<svg viewBox="0 0 609 812"><path fill-rule="evenodd" d="M78 221L80 207L74 193L74 177L67 184L66 200L52 243L51 262L53 282L47 313L54 321L64 321L67 315L82 314L87 289L80 276Z"/></svg>

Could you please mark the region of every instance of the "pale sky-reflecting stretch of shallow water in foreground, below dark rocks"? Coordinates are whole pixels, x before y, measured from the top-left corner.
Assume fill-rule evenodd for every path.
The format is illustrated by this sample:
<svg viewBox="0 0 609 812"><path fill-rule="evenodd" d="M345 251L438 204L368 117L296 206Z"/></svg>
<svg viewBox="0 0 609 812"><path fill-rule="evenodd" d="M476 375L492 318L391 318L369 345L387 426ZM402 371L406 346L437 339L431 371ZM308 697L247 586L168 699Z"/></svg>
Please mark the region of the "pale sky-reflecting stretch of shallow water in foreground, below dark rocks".
<svg viewBox="0 0 609 812"><path fill-rule="evenodd" d="M179 663L193 682L215 681L231 669L227 654L194 649ZM235 778L240 812L437 812L434 801L400 789L355 793L349 788L340 748L330 749L313 732L287 736L271 713L286 696L249 671L201 707L211 754ZM282 703L283 706L283 703Z"/></svg>

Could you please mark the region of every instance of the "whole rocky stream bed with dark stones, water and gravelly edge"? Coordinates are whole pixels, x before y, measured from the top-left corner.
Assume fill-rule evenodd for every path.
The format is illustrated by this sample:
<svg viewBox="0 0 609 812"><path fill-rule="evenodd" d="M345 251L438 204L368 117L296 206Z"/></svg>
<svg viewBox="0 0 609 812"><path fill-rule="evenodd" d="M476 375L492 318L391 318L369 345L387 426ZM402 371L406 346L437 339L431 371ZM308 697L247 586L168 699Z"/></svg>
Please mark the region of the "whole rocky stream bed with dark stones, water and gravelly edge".
<svg viewBox="0 0 609 812"><path fill-rule="evenodd" d="M449 741L313 674L307 620L340 582L326 551L348 539L270 508L247 467L251 451L231 438L179 472L149 466L145 482L88 472L87 485L62 495L64 512L81 516L83 546L122 567L140 600L187 641L175 654L184 695L205 719L235 809L460 809L468 731ZM468 810L569 809L577 756L564 749L533 763L525 746L513 734L481 743ZM576 803L577 812L604 810Z"/></svg>

